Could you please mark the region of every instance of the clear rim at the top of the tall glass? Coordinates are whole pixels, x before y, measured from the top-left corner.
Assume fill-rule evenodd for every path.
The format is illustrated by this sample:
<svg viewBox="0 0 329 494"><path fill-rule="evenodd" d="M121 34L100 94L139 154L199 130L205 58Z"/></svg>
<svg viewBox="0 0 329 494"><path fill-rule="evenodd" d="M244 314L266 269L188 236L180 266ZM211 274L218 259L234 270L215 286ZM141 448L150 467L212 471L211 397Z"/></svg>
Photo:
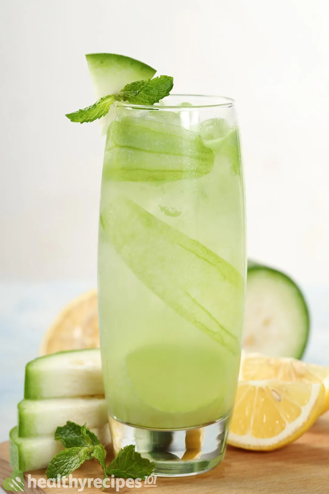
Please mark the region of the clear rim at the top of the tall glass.
<svg viewBox="0 0 329 494"><path fill-rule="evenodd" d="M227 96L215 96L215 95L208 95L208 94L183 94L183 93L174 93L170 94L170 96L181 96L186 98L209 98L209 99L214 99L214 103L210 104L199 104L199 105L191 105L191 106L181 106L181 105L159 105L158 103L155 103L154 105L138 105L138 104L132 104L124 101L116 101L115 104L116 106L122 106L124 108L132 108L132 109L143 109L143 110L154 110L154 109L160 109L161 110L179 110L179 111L192 111L192 110L197 110L200 108L230 108L233 107L235 104L235 100L232 98L229 98ZM215 103L215 100L223 100L222 103Z"/></svg>

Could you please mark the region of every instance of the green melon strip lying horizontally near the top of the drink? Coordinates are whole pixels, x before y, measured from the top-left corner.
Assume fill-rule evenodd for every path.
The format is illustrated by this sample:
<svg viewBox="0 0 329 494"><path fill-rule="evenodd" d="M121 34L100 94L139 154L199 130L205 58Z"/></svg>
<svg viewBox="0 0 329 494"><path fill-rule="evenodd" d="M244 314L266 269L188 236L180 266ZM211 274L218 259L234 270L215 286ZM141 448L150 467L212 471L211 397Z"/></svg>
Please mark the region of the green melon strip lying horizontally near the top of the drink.
<svg viewBox="0 0 329 494"><path fill-rule="evenodd" d="M124 117L108 128L103 176L114 181L165 182L211 172L215 156L197 132L180 125Z"/></svg>

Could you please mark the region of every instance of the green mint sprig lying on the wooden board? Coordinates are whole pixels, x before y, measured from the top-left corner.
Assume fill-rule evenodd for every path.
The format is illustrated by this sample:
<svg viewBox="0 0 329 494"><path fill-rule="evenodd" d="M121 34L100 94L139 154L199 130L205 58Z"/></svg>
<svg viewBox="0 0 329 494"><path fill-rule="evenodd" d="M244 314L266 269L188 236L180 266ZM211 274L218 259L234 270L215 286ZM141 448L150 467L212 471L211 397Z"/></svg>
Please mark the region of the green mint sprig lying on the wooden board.
<svg viewBox="0 0 329 494"><path fill-rule="evenodd" d="M155 463L143 458L135 451L134 445L122 448L107 467L105 448L96 435L86 428L86 424L81 426L69 420L63 427L57 427L55 439L61 441L65 450L57 453L50 461L46 470L48 479L57 478L57 475L61 479L67 477L85 460L92 458L100 462L104 479L110 475L125 479L144 479L155 468Z"/></svg>

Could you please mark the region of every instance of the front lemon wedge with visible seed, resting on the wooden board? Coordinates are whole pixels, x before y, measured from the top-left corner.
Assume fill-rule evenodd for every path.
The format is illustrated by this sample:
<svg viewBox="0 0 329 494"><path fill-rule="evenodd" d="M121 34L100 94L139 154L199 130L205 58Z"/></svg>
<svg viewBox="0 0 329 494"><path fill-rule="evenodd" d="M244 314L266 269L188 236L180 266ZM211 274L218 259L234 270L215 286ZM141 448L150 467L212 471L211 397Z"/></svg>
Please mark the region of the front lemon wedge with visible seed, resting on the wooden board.
<svg viewBox="0 0 329 494"><path fill-rule="evenodd" d="M311 427L324 401L322 383L240 381L228 444L255 451L281 448Z"/></svg>

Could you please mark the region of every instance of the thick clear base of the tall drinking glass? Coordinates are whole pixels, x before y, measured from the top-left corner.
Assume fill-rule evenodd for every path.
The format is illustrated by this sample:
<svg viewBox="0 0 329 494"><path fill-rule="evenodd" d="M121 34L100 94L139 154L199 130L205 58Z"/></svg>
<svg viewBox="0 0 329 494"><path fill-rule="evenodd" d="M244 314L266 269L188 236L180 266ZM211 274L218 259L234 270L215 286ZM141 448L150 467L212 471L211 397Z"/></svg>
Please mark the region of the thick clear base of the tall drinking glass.
<svg viewBox="0 0 329 494"><path fill-rule="evenodd" d="M114 453L134 444L136 451L155 462L154 474L184 477L207 472L225 454L228 418L186 430L150 430L109 417Z"/></svg>

